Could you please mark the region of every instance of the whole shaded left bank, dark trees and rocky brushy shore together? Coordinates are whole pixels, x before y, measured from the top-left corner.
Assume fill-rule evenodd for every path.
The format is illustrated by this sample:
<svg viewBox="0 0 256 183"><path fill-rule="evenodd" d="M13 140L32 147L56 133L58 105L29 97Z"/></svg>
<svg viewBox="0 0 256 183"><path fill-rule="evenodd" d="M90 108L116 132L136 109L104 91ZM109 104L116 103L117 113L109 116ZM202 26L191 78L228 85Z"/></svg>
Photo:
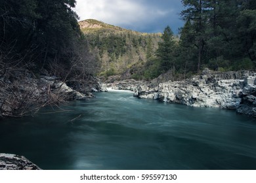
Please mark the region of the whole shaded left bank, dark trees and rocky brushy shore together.
<svg viewBox="0 0 256 183"><path fill-rule="evenodd" d="M0 120L91 92L95 61L74 7L75 0L0 0Z"/></svg>

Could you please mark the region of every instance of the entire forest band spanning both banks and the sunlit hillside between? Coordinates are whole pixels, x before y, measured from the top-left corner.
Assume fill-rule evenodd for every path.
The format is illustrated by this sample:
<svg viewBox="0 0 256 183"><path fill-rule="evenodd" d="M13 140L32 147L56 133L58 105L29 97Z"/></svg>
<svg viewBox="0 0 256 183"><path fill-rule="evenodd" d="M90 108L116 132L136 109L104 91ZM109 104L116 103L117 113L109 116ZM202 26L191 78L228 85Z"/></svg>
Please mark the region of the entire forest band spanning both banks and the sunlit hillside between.
<svg viewBox="0 0 256 183"><path fill-rule="evenodd" d="M186 78L215 71L255 69L254 0L182 0L184 27L173 35L138 33L87 20L79 28L75 0L0 0L0 76L26 68L63 80L89 75L150 80L163 73ZM91 21L91 22L90 22ZM81 23L80 23L81 25Z"/></svg>

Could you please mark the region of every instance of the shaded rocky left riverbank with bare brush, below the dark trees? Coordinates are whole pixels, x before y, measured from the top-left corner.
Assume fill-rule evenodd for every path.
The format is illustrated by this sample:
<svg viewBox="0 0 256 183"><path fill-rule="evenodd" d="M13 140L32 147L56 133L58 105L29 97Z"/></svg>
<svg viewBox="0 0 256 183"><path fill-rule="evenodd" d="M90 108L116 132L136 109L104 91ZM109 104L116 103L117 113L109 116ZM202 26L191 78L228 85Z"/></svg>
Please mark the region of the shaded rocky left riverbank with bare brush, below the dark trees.
<svg viewBox="0 0 256 183"><path fill-rule="evenodd" d="M106 92L106 85L92 76L79 84L62 82L56 76L48 74L34 76L28 70L2 77L0 78L0 118L25 116L37 112L46 105L87 100L94 97L91 92Z"/></svg>

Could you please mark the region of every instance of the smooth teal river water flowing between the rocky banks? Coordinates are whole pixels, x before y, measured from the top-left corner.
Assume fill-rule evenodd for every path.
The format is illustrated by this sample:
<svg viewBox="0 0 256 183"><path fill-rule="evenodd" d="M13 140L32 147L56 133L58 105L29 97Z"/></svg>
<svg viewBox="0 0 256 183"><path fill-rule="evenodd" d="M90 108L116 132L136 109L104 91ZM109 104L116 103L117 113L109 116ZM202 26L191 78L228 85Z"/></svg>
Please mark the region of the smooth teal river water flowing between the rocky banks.
<svg viewBox="0 0 256 183"><path fill-rule="evenodd" d="M0 152L42 169L256 169L256 121L234 111L96 93L0 121Z"/></svg>

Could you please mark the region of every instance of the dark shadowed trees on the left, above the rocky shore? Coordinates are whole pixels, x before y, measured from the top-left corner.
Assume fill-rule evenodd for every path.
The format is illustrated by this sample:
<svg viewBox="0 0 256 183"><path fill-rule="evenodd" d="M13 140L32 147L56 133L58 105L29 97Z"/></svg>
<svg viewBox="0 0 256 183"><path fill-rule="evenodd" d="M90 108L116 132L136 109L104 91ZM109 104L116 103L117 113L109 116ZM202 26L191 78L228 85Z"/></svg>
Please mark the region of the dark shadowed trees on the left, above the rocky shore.
<svg viewBox="0 0 256 183"><path fill-rule="evenodd" d="M28 69L62 79L93 75L75 0L0 0L0 76Z"/></svg>

